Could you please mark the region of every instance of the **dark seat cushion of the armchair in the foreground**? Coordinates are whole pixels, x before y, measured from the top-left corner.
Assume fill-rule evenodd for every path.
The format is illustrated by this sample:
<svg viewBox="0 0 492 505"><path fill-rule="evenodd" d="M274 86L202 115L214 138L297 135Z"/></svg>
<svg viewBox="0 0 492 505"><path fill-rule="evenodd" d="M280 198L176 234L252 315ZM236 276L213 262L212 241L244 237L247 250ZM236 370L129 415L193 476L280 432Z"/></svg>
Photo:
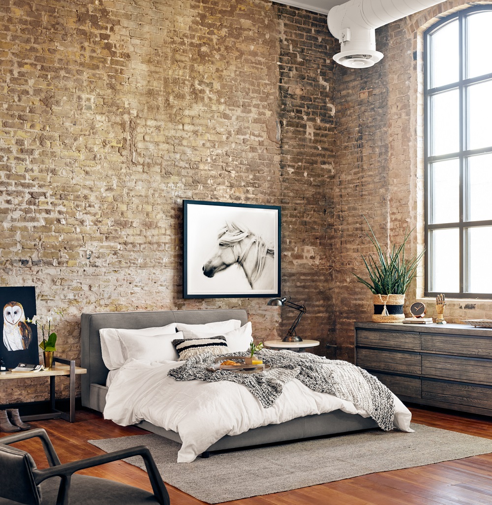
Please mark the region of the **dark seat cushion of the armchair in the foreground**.
<svg viewBox="0 0 492 505"><path fill-rule="evenodd" d="M55 505L60 479L52 477L41 483L42 505ZM70 485L70 505L154 505L153 493L138 487L87 475L73 475ZM0 505L17 505L16 501L0 498Z"/></svg>

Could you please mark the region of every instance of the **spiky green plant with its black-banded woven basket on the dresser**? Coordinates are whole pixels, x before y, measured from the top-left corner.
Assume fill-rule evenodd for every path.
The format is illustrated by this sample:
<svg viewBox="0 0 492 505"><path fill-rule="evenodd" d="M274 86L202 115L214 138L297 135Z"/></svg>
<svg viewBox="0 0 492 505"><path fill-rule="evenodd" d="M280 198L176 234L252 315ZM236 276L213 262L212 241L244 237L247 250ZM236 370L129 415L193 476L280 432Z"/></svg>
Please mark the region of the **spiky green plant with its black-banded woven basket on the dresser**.
<svg viewBox="0 0 492 505"><path fill-rule="evenodd" d="M373 243L376 254L368 255L362 260L368 273L368 280L362 279L356 274L358 282L367 286L373 292L374 315L373 321L377 323L400 323L405 319L403 304L405 292L410 282L417 273L418 262L424 251L411 258L405 258L405 246L413 231L413 228L405 232L400 245L392 245L388 251L383 250L371 225L362 216L371 233L367 236Z"/></svg>

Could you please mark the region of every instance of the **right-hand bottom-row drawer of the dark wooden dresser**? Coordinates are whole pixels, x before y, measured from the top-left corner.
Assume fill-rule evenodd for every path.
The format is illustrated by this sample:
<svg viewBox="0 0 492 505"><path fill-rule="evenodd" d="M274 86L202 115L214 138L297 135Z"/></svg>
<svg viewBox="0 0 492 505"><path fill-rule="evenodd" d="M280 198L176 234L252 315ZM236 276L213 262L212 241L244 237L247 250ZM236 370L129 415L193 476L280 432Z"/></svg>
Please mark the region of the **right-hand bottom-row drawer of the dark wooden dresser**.
<svg viewBox="0 0 492 505"><path fill-rule="evenodd" d="M492 388L476 384L456 384L422 379L422 399L492 409Z"/></svg>

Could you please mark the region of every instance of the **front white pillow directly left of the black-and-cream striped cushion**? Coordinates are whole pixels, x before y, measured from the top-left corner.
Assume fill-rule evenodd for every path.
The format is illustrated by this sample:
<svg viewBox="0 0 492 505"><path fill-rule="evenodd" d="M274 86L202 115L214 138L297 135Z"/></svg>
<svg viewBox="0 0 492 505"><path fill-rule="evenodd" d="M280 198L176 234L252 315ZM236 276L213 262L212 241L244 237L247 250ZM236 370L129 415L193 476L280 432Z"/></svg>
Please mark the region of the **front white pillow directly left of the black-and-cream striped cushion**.
<svg viewBox="0 0 492 505"><path fill-rule="evenodd" d="M179 355L173 345L173 340L183 338L178 331L167 335L128 335L122 342L123 358L140 361L178 361Z"/></svg>

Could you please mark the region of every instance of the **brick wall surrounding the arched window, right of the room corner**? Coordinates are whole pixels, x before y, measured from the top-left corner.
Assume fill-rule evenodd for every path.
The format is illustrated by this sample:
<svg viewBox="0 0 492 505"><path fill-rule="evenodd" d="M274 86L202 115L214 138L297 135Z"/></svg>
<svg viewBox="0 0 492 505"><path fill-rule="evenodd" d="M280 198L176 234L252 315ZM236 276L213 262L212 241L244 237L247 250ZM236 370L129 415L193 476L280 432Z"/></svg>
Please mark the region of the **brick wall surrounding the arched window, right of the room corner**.
<svg viewBox="0 0 492 505"><path fill-rule="evenodd" d="M466 7L444 2L376 30L383 60L366 70L337 66L334 181L334 271L338 357L353 359L353 323L371 320L372 293L352 272L366 277L360 255L373 252L362 214L384 243L401 243L415 228L408 254L423 244L422 33L447 13ZM405 311L423 295L423 262L406 293ZM433 299L428 313L436 315ZM482 300L448 300L448 322L490 317Z"/></svg>

